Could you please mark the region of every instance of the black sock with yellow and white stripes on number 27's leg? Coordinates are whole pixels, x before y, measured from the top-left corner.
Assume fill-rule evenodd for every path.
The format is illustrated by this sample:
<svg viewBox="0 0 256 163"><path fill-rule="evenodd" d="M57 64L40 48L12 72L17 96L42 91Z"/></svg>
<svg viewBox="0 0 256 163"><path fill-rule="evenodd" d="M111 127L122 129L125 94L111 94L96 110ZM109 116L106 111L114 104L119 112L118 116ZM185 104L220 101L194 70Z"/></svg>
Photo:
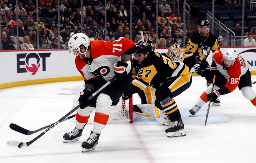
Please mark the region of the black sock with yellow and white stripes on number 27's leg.
<svg viewBox="0 0 256 163"><path fill-rule="evenodd" d="M174 99L167 97L163 101L160 102L165 113L168 115L168 118L174 122L180 118L180 111Z"/></svg>

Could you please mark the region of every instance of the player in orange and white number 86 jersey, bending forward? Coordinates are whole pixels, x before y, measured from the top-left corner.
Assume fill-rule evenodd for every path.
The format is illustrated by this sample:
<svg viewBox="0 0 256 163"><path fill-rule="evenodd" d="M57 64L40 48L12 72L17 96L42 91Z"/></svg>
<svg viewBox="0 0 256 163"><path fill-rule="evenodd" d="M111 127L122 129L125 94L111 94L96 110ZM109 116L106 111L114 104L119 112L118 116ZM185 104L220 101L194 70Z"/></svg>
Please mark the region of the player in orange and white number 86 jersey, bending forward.
<svg viewBox="0 0 256 163"><path fill-rule="evenodd" d="M236 54L236 50L229 48L224 54L215 50L212 56L211 72L216 74L216 80L212 89L212 84L198 98L196 105L189 111L195 115L199 109L210 99L215 100L220 95L225 95L233 90L242 91L245 98L249 99L252 105L256 106L256 94L252 90L252 79L249 65L246 60Z"/></svg>

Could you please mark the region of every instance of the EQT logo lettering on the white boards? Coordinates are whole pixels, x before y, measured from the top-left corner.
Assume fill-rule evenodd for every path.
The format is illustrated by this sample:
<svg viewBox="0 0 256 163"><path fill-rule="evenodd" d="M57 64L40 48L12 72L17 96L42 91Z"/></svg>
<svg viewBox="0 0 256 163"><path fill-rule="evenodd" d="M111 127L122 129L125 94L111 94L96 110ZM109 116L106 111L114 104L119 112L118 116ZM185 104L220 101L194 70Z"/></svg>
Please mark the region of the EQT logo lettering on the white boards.
<svg viewBox="0 0 256 163"><path fill-rule="evenodd" d="M46 58L50 57L51 53L21 53L17 54L17 73L32 72L35 75L39 67L46 70Z"/></svg>

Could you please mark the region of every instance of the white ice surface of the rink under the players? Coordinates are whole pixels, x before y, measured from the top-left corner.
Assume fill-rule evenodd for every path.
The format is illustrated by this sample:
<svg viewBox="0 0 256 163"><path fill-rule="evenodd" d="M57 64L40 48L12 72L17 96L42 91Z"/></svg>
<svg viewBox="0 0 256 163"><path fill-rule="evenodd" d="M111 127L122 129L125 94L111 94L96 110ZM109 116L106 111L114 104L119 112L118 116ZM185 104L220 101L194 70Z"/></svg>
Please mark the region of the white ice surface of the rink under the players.
<svg viewBox="0 0 256 163"><path fill-rule="evenodd" d="M252 76L256 80L256 76ZM187 136L168 138L167 126L156 121L110 124L102 131L94 151L82 153L81 144L89 136L87 124L80 140L62 143L62 136L74 128L67 120L52 128L28 147L7 146L8 140L28 142L39 135L26 136L9 128L15 123L36 130L59 120L72 108L81 81L30 85L0 90L0 163L255 163L256 108L238 88L220 97L221 105L211 105L205 127L207 105L188 117L189 109L206 88L205 79L194 77L191 87L175 97ZM256 92L256 84L252 86ZM137 95L133 103L139 103Z"/></svg>

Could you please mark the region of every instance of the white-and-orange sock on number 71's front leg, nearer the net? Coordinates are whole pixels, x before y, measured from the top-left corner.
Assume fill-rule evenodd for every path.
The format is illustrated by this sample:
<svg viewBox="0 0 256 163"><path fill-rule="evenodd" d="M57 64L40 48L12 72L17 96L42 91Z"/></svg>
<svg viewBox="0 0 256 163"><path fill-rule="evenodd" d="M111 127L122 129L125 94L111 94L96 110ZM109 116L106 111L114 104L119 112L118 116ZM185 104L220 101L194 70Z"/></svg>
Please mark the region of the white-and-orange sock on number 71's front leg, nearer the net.
<svg viewBox="0 0 256 163"><path fill-rule="evenodd" d="M107 94L101 93L97 98L96 113L94 116L94 123L92 132L100 134L101 131L106 127L108 122L109 113L112 105L112 100Z"/></svg>

